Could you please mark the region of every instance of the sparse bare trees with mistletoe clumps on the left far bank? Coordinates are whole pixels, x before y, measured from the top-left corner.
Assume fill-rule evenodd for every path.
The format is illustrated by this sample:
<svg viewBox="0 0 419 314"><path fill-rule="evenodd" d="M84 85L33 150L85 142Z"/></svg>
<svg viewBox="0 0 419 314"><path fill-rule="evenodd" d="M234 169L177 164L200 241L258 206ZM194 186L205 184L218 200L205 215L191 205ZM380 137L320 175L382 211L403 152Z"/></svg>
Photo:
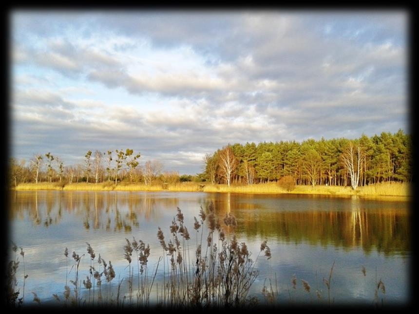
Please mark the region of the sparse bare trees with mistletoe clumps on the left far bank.
<svg viewBox="0 0 419 314"><path fill-rule="evenodd" d="M35 154L27 163L9 159L9 184L19 183L130 183L180 182L181 177L175 171L163 171L163 164L157 160L149 160L139 166L140 153L127 148L101 152L89 150L82 163L65 166L60 157L51 152Z"/></svg>

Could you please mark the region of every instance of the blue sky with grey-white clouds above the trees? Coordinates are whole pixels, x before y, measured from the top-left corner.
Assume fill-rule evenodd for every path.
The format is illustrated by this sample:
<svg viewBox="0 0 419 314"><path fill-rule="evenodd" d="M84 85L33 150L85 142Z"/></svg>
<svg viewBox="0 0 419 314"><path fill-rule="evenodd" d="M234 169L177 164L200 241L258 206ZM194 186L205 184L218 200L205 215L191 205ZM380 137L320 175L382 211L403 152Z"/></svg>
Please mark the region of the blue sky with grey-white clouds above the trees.
<svg viewBox="0 0 419 314"><path fill-rule="evenodd" d="M397 10L10 13L10 151L133 149L203 171L227 144L409 132Z"/></svg>

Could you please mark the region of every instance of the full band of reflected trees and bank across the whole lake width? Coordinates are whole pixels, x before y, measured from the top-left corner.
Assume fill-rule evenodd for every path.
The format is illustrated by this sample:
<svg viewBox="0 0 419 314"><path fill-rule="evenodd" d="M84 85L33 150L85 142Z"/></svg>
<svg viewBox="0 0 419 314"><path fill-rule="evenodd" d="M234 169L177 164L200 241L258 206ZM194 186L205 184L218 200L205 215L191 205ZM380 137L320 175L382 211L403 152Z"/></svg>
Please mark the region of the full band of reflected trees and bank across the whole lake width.
<svg viewBox="0 0 419 314"><path fill-rule="evenodd" d="M198 195L199 194L199 195ZM410 222L406 202L380 202L361 198L272 196L231 193L146 193L97 191L12 191L10 219L34 226L64 224L64 216L82 222L86 230L130 233L139 221L168 225L165 210L181 208L197 216L199 206L211 201L222 219L231 212L236 233L246 239L276 239L285 243L361 247L368 254L410 252ZM165 219L167 220L167 219ZM154 237L154 234L152 235Z"/></svg>

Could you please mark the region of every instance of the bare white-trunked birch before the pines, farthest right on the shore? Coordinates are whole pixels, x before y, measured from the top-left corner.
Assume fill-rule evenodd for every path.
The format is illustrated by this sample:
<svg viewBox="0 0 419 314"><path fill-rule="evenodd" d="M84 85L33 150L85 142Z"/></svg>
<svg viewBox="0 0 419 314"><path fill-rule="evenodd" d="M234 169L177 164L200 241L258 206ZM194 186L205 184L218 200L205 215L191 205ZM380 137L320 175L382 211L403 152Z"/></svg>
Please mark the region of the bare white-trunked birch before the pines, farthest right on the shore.
<svg viewBox="0 0 419 314"><path fill-rule="evenodd" d="M351 186L353 190L359 185L360 173L364 162L364 153L359 143L349 142L342 154L343 166L349 173L351 178Z"/></svg>

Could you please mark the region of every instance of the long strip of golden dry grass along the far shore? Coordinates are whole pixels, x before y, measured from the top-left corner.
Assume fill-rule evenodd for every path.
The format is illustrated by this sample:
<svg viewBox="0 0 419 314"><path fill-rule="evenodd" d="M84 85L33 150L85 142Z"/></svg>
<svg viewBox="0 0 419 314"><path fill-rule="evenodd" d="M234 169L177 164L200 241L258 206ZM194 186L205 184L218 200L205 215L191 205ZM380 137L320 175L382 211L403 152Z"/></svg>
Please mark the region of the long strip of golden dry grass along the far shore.
<svg viewBox="0 0 419 314"><path fill-rule="evenodd" d="M410 185L407 183L380 183L360 186L356 191L349 186L296 185L291 191L286 191L274 182L254 185L199 185L184 182L165 185L144 185L138 183L25 183L19 184L16 190L83 190L83 191L204 191L231 193L274 193L274 194L312 194L312 195L360 195L360 196L411 196Z"/></svg>

